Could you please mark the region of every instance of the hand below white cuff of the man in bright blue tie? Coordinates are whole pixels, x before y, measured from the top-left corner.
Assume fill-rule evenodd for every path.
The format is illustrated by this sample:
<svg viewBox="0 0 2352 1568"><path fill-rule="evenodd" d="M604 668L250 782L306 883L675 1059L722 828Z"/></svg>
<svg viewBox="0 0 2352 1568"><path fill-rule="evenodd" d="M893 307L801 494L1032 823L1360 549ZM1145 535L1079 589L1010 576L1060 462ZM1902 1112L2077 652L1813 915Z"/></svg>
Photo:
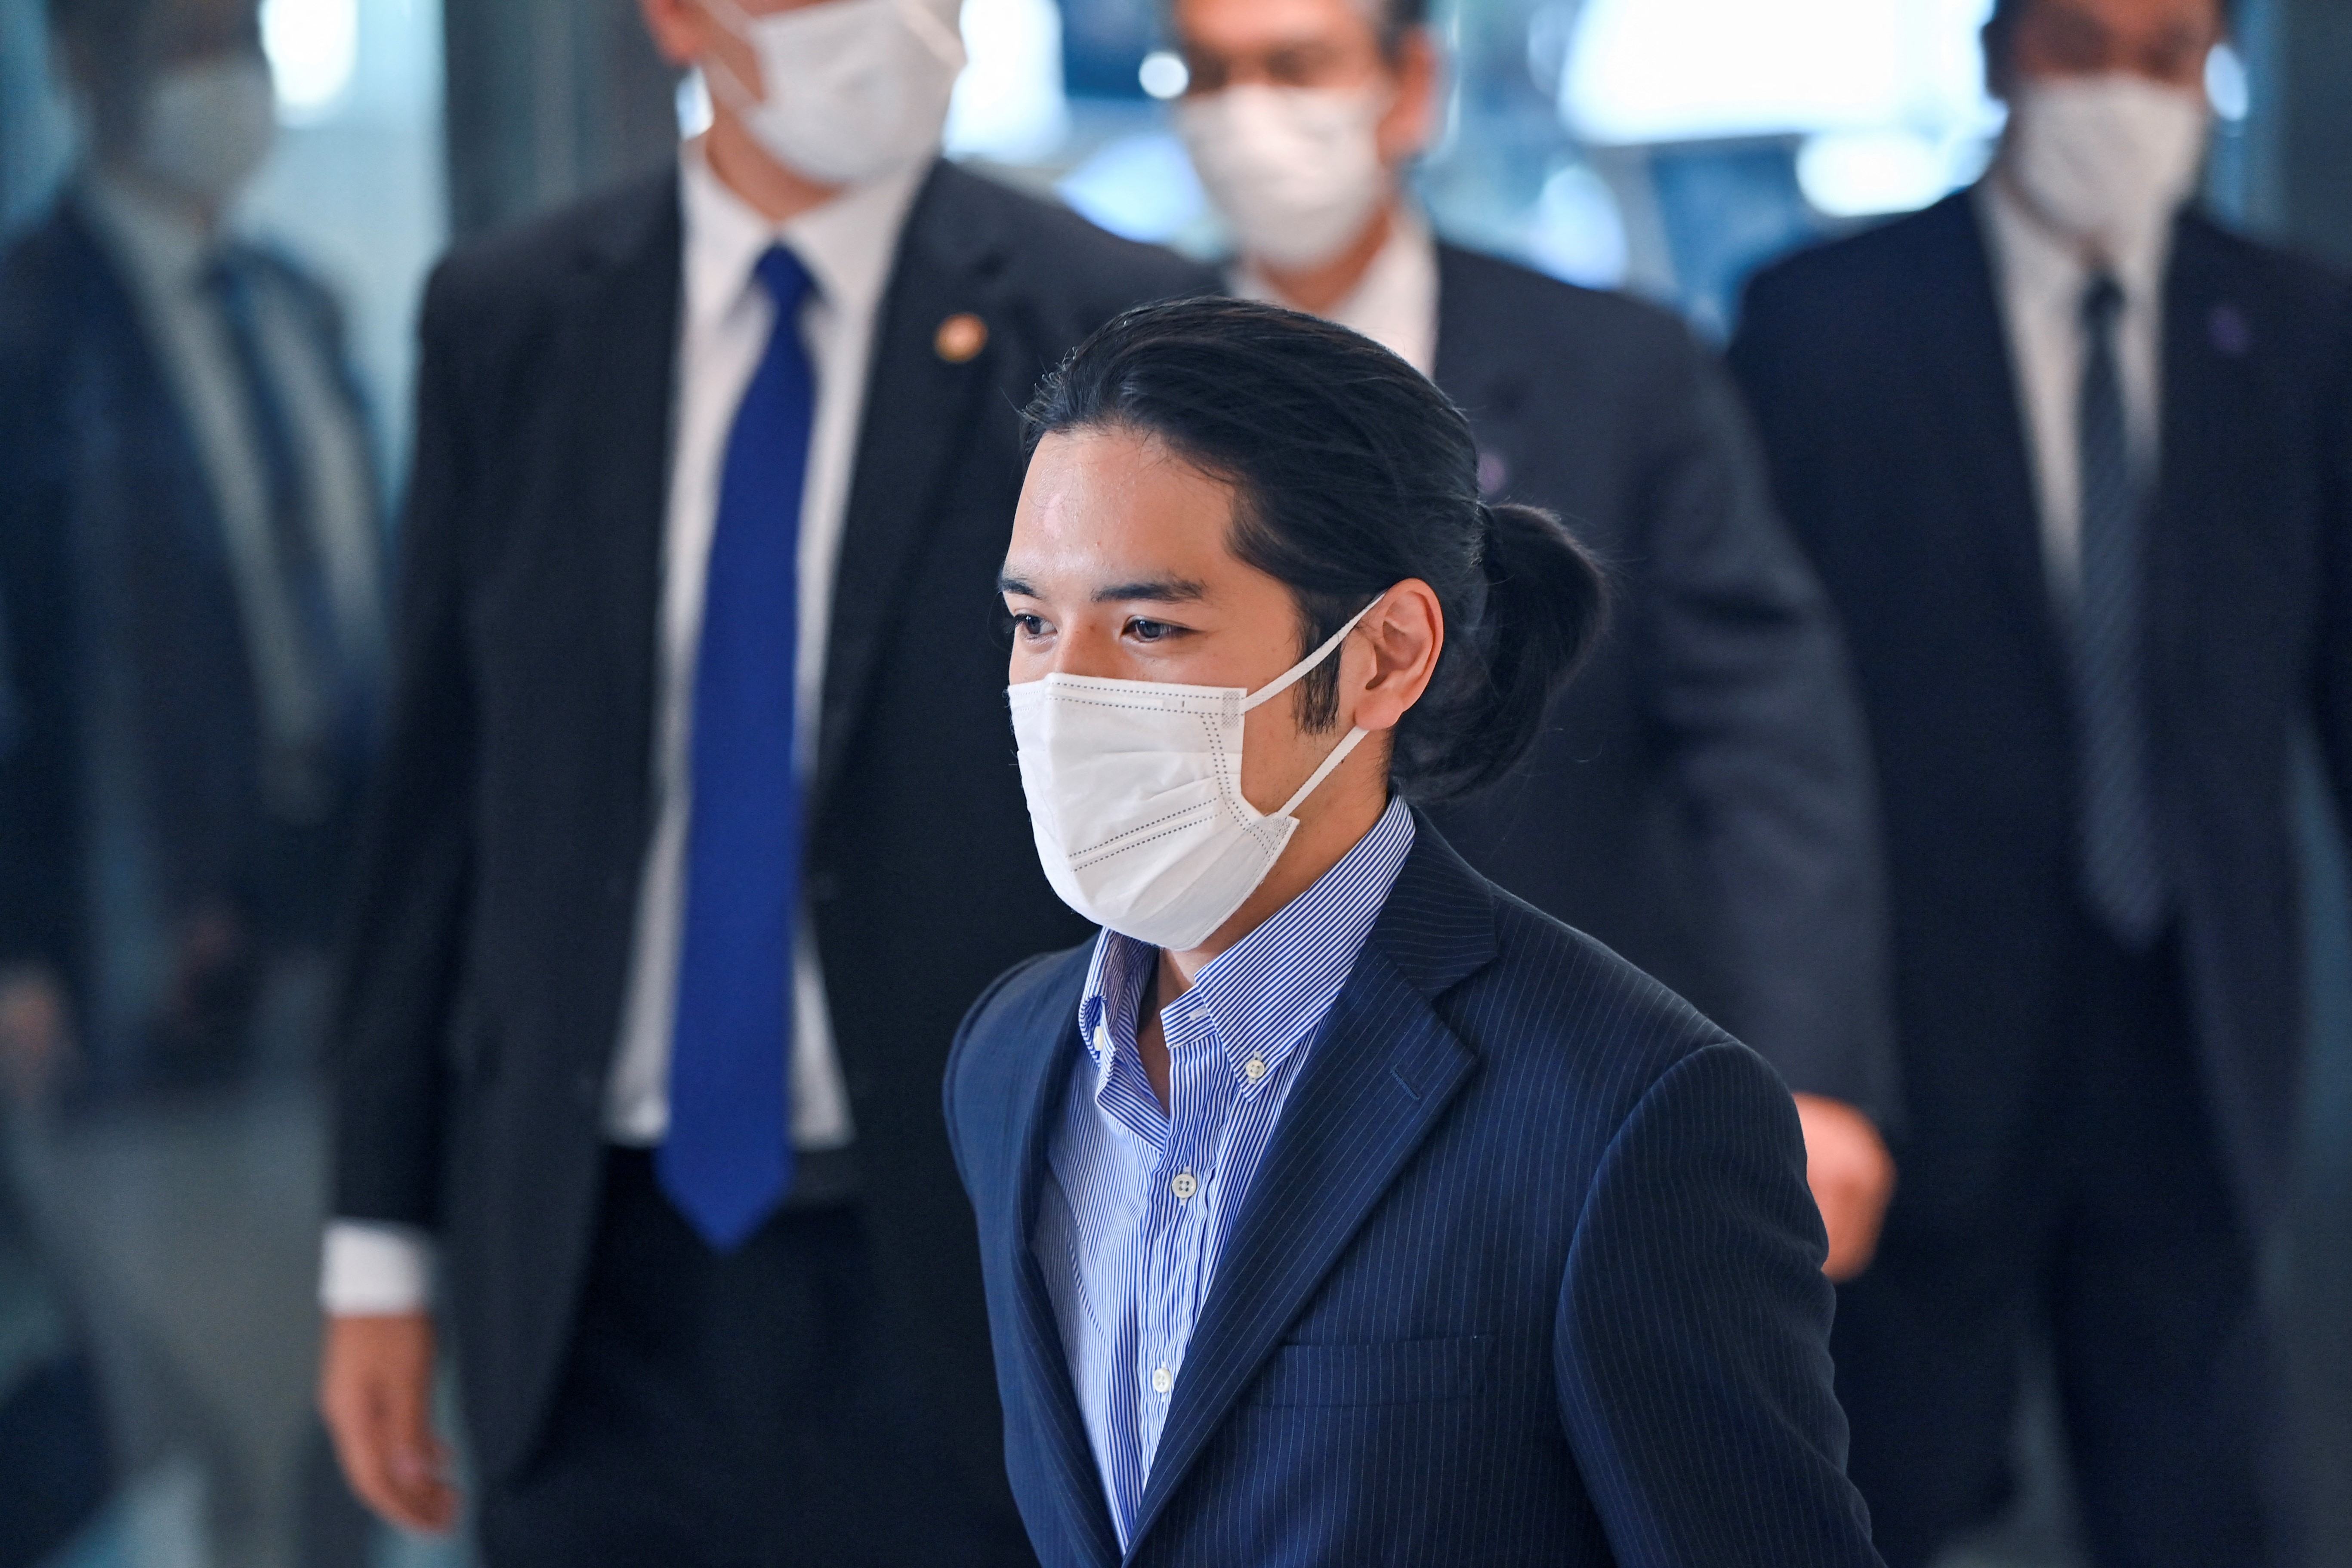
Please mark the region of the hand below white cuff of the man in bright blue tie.
<svg viewBox="0 0 2352 1568"><path fill-rule="evenodd" d="M456 1523L449 1448L433 1434L433 1316L329 1316L318 1408L343 1479L405 1530Z"/></svg>

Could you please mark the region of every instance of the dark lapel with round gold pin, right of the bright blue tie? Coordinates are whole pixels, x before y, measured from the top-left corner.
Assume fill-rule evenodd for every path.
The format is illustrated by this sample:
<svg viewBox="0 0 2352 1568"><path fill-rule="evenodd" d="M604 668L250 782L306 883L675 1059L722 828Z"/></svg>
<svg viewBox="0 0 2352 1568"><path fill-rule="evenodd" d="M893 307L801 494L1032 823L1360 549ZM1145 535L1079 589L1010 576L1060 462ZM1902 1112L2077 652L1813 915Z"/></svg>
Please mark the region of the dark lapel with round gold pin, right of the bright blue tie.
<svg viewBox="0 0 2352 1568"><path fill-rule="evenodd" d="M849 515L826 632L826 696L816 731L809 820L840 778L866 689L894 635L891 588L941 515L941 484L964 447L997 348L950 362L934 346L941 322L971 313L997 320L1004 249L995 209L964 200L971 176L938 165L908 212L898 266L875 322L873 371L858 435Z"/></svg>

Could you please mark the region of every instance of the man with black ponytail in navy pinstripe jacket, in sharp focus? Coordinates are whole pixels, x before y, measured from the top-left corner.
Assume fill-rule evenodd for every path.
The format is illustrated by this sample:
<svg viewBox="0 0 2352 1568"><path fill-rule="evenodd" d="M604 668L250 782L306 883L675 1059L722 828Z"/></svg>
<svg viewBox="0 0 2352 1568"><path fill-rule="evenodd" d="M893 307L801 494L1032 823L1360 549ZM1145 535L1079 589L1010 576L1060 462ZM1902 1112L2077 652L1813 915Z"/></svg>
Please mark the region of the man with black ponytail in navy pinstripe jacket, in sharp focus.
<svg viewBox="0 0 2352 1568"><path fill-rule="evenodd" d="M1148 306L1030 404L1000 588L1037 856L1101 933L946 1112L1047 1568L1875 1568L1788 1088L1425 809L1604 585L1343 327Z"/></svg>

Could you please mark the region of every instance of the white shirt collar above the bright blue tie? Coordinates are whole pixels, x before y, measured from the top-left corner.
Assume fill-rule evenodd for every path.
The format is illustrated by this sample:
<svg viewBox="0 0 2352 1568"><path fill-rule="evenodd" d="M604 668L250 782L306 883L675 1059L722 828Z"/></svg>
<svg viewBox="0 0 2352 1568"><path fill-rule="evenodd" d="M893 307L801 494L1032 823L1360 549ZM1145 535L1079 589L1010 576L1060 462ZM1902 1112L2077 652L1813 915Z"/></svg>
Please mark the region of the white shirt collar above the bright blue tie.
<svg viewBox="0 0 2352 1568"><path fill-rule="evenodd" d="M929 162L915 162L771 223L710 169L701 136L682 143L677 176L687 230L687 317L710 322L731 310L753 287L753 268L771 244L793 249L828 306L844 313L873 310L889 284L906 214L929 174Z"/></svg>

